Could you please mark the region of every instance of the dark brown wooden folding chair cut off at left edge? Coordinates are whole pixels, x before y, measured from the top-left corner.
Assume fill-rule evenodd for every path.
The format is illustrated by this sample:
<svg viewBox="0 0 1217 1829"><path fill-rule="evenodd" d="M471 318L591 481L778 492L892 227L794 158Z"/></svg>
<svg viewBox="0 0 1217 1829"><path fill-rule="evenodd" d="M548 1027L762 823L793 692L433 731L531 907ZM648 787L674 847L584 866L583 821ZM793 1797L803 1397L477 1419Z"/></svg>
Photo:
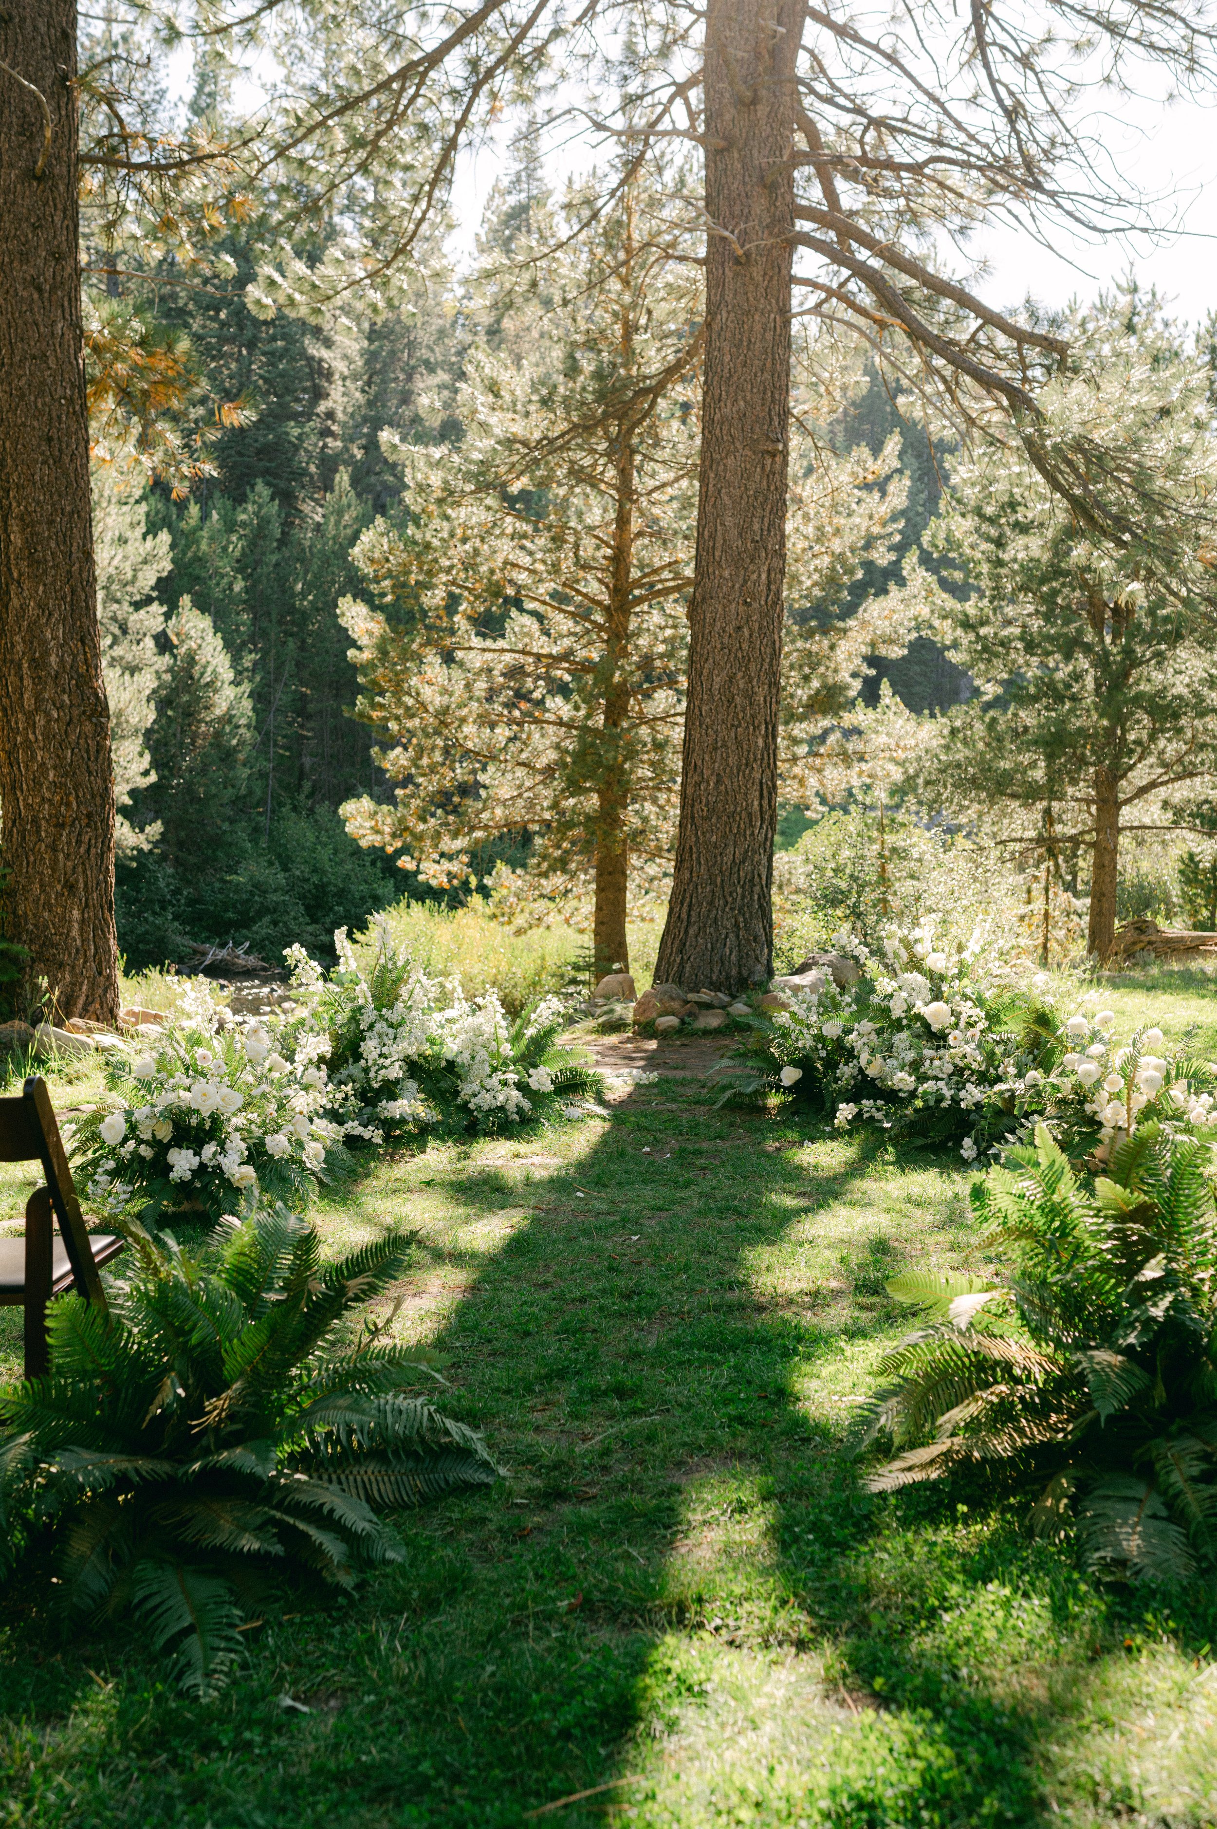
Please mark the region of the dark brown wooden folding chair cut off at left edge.
<svg viewBox="0 0 1217 1829"><path fill-rule="evenodd" d="M0 1238L0 1308L26 1310L26 1377L40 1377L48 1302L75 1284L104 1308L97 1266L117 1257L124 1240L86 1233L44 1079L27 1079L20 1097L0 1099L0 1161L40 1161L46 1176L46 1187L26 1202L26 1236Z"/></svg>

